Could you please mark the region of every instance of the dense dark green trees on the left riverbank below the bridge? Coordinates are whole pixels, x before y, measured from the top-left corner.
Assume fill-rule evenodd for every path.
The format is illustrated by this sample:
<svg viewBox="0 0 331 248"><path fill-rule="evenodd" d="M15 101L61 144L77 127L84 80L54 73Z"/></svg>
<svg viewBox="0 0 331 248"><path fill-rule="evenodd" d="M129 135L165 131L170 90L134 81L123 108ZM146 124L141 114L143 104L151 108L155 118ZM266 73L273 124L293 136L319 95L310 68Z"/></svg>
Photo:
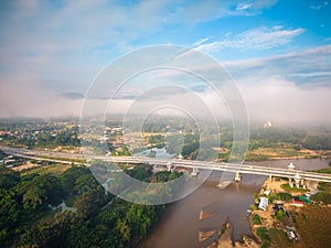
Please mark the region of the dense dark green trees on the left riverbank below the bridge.
<svg viewBox="0 0 331 248"><path fill-rule="evenodd" d="M164 209L106 195L87 168L65 166L38 168L21 175L0 169L1 247L135 247ZM151 176L142 165L128 174L143 181ZM160 173L153 180L179 175ZM76 211L50 207L63 201Z"/></svg>

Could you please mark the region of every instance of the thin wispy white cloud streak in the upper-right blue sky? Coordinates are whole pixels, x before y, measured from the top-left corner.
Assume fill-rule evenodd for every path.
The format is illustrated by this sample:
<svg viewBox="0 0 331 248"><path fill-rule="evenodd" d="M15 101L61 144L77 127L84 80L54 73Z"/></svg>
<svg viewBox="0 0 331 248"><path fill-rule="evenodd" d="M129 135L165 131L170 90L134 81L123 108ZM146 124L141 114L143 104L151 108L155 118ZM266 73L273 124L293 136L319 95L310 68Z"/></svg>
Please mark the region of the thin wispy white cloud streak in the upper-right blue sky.
<svg viewBox="0 0 331 248"><path fill-rule="evenodd" d="M285 45L299 34L303 29L284 29L284 26L258 28L245 31L241 34L229 36L221 41L201 43L197 50L204 52L217 52L223 48L268 50Z"/></svg>

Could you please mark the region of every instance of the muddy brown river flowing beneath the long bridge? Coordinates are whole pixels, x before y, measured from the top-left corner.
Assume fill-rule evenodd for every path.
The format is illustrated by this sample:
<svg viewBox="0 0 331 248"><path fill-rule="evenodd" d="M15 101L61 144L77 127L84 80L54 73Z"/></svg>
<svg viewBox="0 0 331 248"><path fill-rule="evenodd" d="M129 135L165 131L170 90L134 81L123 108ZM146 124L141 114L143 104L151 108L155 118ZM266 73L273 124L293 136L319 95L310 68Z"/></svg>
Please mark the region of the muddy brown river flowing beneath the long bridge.
<svg viewBox="0 0 331 248"><path fill-rule="evenodd" d="M299 159L252 162L250 164L286 168L293 162L297 169L316 170L328 166L330 160ZM247 162L247 164L249 164ZM211 245L215 236L200 242L199 230L220 229L226 217L233 224L233 240L243 234L252 235L247 209L253 203L253 193L259 191L266 176L244 174L241 183L232 183L226 188L216 187L222 172L213 172L194 193L169 204L151 234L138 248L201 248ZM200 220L200 212L214 213Z"/></svg>

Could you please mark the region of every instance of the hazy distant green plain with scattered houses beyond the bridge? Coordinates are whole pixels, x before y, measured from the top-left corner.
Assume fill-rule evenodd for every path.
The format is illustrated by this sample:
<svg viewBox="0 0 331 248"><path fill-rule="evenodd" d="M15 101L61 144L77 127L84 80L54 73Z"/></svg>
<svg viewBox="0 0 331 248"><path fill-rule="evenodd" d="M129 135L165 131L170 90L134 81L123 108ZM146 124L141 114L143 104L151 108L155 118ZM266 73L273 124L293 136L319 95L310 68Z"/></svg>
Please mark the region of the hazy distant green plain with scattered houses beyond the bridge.
<svg viewBox="0 0 331 248"><path fill-rule="evenodd" d="M56 122L57 121L57 122ZM113 155L129 155L140 152L130 150L124 143L124 133L119 121L109 121L103 127L105 142ZM139 130L140 123L129 125L134 130ZM139 126L137 128L136 126ZM220 130L211 130L209 122L202 122L202 129L209 133L200 133L200 129L188 119L156 118L143 126L146 133L143 141L146 148L164 148L166 138L173 145L169 145L169 153L182 153L184 159L218 159L227 161L233 145L232 123L222 123ZM3 133L0 134L2 143L29 148L58 148L61 150L75 149L79 145L78 126L73 120L0 120ZM201 130L202 130L201 129ZM92 133L97 132L97 127L90 127ZM167 136L171 130L181 131L179 134ZM129 133L129 132L128 132ZM203 134L203 136L202 136ZM90 136L84 140L85 145L98 150L99 137ZM182 145L183 142L183 145ZM175 145L177 144L177 145ZM215 150L210 149L215 148ZM263 125L250 128L250 138L247 161L266 161L276 158L320 158L330 155L331 131L316 129L292 129L286 127L268 127ZM99 152L103 152L99 150ZM213 154L215 152L215 154Z"/></svg>

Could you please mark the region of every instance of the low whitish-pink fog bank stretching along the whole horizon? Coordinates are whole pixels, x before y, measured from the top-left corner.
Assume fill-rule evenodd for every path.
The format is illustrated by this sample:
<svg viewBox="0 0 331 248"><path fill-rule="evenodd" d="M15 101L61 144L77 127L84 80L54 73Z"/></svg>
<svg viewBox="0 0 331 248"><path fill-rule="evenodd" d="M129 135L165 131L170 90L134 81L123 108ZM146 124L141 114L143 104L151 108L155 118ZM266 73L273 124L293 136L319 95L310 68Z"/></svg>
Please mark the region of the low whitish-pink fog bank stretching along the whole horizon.
<svg viewBox="0 0 331 248"><path fill-rule="evenodd" d="M275 83L268 85L245 86L239 85L244 106L246 106L249 121L265 122L271 121L286 126L328 126L331 125L331 88L307 88L301 89L288 83ZM220 120L229 120L231 111L227 103L221 101L214 94L205 93L201 96ZM164 100L167 103L186 101L185 96L172 96ZM108 100L92 99L94 115L117 115L129 111L135 99L116 99L111 106L105 109ZM186 103L188 105L190 103ZM162 105L162 100L147 100L148 105ZM0 117L79 117L84 99L71 99L65 96L53 96L50 93L20 94L20 91L1 91ZM136 115L147 115L143 108L136 110ZM194 115L203 115L202 109L195 109ZM164 111L171 115L171 111Z"/></svg>

